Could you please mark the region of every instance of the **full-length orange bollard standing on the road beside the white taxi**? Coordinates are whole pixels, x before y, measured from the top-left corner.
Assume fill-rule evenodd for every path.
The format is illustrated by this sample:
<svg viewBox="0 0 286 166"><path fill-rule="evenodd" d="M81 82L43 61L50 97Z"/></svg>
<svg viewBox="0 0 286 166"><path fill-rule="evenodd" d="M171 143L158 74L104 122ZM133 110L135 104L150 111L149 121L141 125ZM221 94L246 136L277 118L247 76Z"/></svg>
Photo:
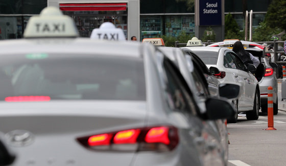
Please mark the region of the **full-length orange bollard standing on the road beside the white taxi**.
<svg viewBox="0 0 286 166"><path fill-rule="evenodd" d="M268 128L265 130L276 130L273 121L273 87L268 86Z"/></svg>

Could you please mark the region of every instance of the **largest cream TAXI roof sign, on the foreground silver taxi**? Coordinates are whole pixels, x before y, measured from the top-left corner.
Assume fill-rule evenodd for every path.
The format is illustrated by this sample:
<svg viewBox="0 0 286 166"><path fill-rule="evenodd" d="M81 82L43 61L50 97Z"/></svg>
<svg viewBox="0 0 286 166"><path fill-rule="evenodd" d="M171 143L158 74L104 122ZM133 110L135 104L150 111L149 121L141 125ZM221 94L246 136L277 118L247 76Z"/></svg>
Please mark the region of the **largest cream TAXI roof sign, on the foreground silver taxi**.
<svg viewBox="0 0 286 166"><path fill-rule="evenodd" d="M32 16L23 34L25 38L78 37L74 20L56 7L44 8L39 16Z"/></svg>

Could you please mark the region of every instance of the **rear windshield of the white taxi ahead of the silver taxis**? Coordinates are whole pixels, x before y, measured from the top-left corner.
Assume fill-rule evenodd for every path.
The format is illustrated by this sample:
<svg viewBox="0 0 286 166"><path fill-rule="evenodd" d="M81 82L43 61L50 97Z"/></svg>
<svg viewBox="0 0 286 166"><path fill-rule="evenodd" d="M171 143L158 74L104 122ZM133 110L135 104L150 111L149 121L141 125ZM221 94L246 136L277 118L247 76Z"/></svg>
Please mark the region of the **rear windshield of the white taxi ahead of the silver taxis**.
<svg viewBox="0 0 286 166"><path fill-rule="evenodd" d="M217 64L218 52L194 51L205 64Z"/></svg>

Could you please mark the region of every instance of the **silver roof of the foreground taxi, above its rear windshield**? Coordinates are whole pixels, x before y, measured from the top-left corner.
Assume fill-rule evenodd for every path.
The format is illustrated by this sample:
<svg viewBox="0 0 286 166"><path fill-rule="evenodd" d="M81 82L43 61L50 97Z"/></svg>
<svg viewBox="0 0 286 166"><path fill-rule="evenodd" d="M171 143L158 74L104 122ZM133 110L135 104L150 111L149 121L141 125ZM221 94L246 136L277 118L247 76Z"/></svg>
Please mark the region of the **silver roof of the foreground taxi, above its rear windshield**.
<svg viewBox="0 0 286 166"><path fill-rule="evenodd" d="M141 57L139 42L95 40L89 38L38 38L0 41L0 54L75 53ZM16 48L16 49L15 49Z"/></svg>

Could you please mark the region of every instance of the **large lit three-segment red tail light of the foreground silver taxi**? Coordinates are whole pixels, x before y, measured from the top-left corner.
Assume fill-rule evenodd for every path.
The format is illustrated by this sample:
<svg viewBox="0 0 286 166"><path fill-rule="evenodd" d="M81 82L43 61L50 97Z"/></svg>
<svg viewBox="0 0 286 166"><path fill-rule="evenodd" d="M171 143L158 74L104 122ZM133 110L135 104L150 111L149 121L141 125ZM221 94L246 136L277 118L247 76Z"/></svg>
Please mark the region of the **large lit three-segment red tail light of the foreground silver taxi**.
<svg viewBox="0 0 286 166"><path fill-rule="evenodd" d="M152 127L123 130L77 138L88 149L103 151L173 150L179 143L175 127Z"/></svg>

